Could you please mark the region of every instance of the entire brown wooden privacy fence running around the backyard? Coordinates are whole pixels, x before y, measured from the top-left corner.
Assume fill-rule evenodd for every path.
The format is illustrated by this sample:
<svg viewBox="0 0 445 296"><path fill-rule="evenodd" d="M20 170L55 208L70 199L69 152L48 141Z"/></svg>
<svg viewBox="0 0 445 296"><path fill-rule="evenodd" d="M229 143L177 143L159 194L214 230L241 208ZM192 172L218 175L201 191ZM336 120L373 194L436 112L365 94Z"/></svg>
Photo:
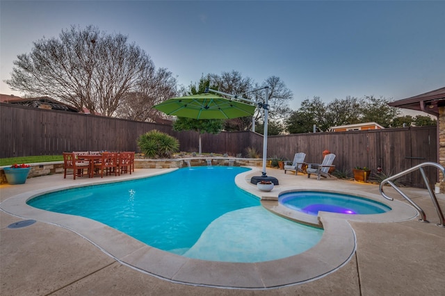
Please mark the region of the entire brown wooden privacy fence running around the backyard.
<svg viewBox="0 0 445 296"><path fill-rule="evenodd" d="M54 155L63 151L138 151L136 139L152 129L168 133L180 142L181 151L198 150L198 133L176 132L172 126L134 122L110 117L84 115L0 104L0 158ZM254 147L262 153L263 136L251 131L202 134L202 151L236 156ZM323 150L337 155L337 170L352 171L366 166L375 172L395 174L426 161L437 162L436 126L350 131L340 133L300 133L268 137L268 157L293 159L305 152L306 161L321 163ZM426 169L431 182L437 170ZM419 172L407 175L405 185L423 187Z"/></svg>

